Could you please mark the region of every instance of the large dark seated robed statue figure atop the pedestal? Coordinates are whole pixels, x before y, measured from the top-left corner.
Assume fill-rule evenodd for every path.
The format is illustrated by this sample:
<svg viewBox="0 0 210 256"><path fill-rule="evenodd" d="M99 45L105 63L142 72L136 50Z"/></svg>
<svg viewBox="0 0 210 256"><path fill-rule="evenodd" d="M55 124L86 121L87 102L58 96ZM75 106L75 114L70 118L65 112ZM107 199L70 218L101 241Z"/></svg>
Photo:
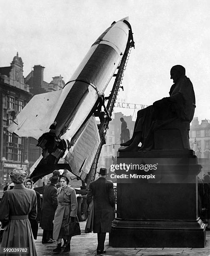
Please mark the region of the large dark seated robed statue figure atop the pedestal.
<svg viewBox="0 0 210 256"><path fill-rule="evenodd" d="M195 93L192 82L185 76L185 68L181 65L172 67L170 78L174 82L170 88L170 97L155 101L153 105L138 111L133 136L120 144L127 148L119 149L119 152L151 150L154 131L173 121L190 123L193 120ZM140 142L142 145L139 148Z"/></svg>

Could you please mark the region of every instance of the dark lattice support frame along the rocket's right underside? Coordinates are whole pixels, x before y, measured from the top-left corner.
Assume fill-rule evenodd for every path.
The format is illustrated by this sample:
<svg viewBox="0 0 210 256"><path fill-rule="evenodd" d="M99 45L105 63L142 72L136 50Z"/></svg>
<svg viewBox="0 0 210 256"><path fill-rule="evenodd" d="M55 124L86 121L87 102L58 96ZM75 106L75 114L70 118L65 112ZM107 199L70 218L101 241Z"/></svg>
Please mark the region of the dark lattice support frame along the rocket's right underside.
<svg viewBox="0 0 210 256"><path fill-rule="evenodd" d="M126 20L124 20L124 22L130 28L129 36L128 36L128 42L127 42L127 45L126 45L126 48L125 48L125 52L122 56L122 60L120 62L120 65L117 68L118 72L117 72L117 74L113 75L113 77L116 77L116 78L115 78L115 82L113 84L112 91L109 95L109 100L108 100L107 106L106 106L106 109L107 109L107 112L108 112L109 116L107 116L102 121L102 123L100 123L100 126L99 126L100 143L99 143L99 146L97 148L97 152L96 152L95 158L93 160L90 172L87 176L87 189L89 187L90 182L93 182L95 180L98 159L99 159L99 156L100 156L100 153L101 153L102 146L106 143L105 135L106 135L107 129L109 128L108 125L109 125L109 122L110 122L110 117L112 116L113 108L115 106L118 91L120 90L120 88L122 88L122 90L123 90L123 87L120 86L120 84L122 84L122 80L123 80L123 72L126 69L127 62L128 62L129 56L130 56L131 48L134 47L133 33L132 33L130 23L128 23Z"/></svg>

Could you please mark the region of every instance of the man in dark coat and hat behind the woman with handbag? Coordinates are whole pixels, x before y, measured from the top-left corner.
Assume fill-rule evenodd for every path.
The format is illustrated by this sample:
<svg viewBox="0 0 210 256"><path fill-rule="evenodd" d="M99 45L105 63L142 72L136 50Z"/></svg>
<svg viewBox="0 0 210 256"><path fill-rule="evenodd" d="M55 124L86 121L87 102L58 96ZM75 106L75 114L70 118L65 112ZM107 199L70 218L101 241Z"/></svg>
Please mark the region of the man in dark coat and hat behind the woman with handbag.
<svg viewBox="0 0 210 256"><path fill-rule="evenodd" d="M42 197L42 215L40 227L43 229L42 243L53 243L52 231L55 210L57 208L57 188L58 176L50 177L50 184L44 187Z"/></svg>

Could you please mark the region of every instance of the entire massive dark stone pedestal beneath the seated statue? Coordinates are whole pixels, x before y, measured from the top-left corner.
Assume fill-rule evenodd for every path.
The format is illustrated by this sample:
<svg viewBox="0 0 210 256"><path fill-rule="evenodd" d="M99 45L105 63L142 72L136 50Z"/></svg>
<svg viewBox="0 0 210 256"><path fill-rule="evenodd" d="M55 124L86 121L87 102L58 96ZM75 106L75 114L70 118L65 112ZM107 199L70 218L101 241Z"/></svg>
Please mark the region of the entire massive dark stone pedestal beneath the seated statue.
<svg viewBox="0 0 210 256"><path fill-rule="evenodd" d="M117 164L122 167L129 162L155 164L157 169L115 171L129 177L117 179L117 218L112 223L110 245L204 247L205 224L198 217L199 166L193 151L120 153ZM142 176L134 178L134 174Z"/></svg>

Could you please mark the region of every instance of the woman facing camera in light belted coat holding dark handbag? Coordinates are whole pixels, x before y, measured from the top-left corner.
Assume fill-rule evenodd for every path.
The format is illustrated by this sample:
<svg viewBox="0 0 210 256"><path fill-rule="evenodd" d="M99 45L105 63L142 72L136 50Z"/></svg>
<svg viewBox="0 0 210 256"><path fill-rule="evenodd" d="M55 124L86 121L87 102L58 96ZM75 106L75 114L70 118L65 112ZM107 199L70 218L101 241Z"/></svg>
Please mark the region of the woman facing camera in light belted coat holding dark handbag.
<svg viewBox="0 0 210 256"><path fill-rule="evenodd" d="M64 252L70 251L71 236L65 236L64 226L72 221L77 215L77 198L75 189L68 186L69 179L61 176L61 187L57 189L58 206L55 211L53 222L53 239L57 240L57 247L53 251L61 251L61 239L67 240Z"/></svg>

